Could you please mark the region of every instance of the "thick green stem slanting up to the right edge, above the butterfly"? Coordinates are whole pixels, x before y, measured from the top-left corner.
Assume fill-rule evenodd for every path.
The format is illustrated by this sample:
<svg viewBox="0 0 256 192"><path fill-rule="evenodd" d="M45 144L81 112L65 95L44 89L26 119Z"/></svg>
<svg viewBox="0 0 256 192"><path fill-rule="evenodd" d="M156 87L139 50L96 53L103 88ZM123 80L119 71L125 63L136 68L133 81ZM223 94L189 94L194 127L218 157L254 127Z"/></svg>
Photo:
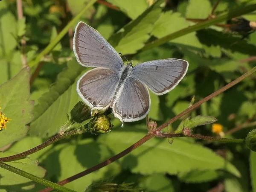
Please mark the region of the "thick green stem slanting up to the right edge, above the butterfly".
<svg viewBox="0 0 256 192"><path fill-rule="evenodd" d="M162 44L165 44L165 43L171 41L172 39L181 37L181 36L186 35L186 34L191 33L191 32L198 31L200 29L204 29L206 27L209 27L211 25L223 22L225 20L229 20L233 17L238 17L238 16L244 15L246 13L253 12L255 10L256 10L256 4L248 5L248 6L245 6L243 8L230 11L230 12L224 14L224 15L217 16L217 17L215 17L211 20L206 20L206 21L203 21L201 23L197 23L195 25L192 25L192 26L186 27L184 29L181 29L177 32L174 32L170 35L166 35L166 36L164 36L160 39L157 39L155 41L151 41L150 43L145 44L145 46L143 47L143 49L141 49L141 51L151 49L153 47L157 47L159 45L162 45Z"/></svg>

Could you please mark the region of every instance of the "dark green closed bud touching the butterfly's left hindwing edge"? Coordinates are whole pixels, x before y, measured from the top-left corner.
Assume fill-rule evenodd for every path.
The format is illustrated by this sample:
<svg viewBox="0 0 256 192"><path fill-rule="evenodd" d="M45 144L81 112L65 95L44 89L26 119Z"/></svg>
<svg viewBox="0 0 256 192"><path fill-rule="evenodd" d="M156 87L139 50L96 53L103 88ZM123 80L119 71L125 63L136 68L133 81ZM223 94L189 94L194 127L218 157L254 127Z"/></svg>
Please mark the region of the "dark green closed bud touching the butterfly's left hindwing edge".
<svg viewBox="0 0 256 192"><path fill-rule="evenodd" d="M71 121L81 123L90 118L90 108L84 102L78 102L70 111Z"/></svg>

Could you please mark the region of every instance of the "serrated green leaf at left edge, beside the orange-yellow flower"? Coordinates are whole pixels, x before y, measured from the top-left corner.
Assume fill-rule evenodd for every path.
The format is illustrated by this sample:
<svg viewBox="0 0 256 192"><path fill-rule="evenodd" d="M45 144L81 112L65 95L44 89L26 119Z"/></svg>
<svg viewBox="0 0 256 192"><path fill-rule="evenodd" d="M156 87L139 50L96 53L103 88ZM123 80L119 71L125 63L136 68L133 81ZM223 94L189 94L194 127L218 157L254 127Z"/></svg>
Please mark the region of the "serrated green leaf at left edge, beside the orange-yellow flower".
<svg viewBox="0 0 256 192"><path fill-rule="evenodd" d="M0 132L0 147L11 144L24 137L28 131L26 126L31 122L33 103L29 101L29 68L20 71L13 79L0 85L1 111L10 122L7 128Z"/></svg>

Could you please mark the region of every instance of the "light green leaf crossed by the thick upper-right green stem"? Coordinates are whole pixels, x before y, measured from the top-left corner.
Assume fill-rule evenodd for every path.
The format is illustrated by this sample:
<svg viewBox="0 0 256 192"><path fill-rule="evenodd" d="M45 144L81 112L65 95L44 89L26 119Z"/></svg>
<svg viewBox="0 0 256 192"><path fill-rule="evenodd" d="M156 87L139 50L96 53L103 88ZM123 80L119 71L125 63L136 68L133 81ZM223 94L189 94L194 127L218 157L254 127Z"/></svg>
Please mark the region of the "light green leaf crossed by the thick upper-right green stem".
<svg viewBox="0 0 256 192"><path fill-rule="evenodd" d="M180 13L167 11L162 13L157 22L154 25L152 35L157 38L162 38L180 29L189 26L189 22L184 17L181 17ZM177 44L177 46L188 46L201 50L202 45L198 41L195 32L183 35L179 38L175 38L171 43Z"/></svg>

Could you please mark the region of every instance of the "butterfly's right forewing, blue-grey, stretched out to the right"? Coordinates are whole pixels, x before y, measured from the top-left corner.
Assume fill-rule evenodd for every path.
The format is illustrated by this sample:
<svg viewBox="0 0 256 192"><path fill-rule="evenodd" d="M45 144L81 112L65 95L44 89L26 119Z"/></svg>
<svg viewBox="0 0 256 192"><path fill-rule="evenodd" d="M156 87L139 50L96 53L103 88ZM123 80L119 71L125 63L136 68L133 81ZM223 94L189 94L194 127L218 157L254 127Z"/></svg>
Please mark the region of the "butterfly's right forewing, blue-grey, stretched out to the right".
<svg viewBox="0 0 256 192"><path fill-rule="evenodd" d="M183 79L189 67L181 59L161 59L136 65L133 76L150 88L155 94L163 95L172 90Z"/></svg>

